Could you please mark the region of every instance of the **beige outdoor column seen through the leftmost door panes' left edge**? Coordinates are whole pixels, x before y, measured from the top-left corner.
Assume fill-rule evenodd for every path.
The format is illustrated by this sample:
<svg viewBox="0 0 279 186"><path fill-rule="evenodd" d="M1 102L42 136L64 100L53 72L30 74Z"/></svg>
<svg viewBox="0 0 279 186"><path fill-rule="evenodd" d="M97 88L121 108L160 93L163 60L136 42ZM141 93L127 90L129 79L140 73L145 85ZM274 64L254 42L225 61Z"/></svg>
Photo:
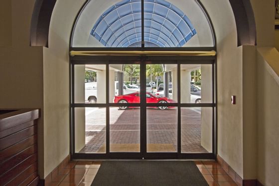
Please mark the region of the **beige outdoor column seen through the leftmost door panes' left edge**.
<svg viewBox="0 0 279 186"><path fill-rule="evenodd" d="M75 65L75 102L84 103L85 65ZM79 152L85 146L85 108L75 109L75 152Z"/></svg>

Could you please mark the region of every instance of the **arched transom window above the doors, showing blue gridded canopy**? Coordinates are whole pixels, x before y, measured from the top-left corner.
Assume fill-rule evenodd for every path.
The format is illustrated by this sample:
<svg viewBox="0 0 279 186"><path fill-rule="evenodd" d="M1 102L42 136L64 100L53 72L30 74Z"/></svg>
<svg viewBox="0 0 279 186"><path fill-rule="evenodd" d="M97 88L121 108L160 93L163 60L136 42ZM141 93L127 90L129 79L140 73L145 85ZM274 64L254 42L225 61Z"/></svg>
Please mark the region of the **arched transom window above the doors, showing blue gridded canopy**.
<svg viewBox="0 0 279 186"><path fill-rule="evenodd" d="M195 0L144 0L143 8L141 4L142 0L89 0L76 22L72 47L214 46L208 18Z"/></svg>

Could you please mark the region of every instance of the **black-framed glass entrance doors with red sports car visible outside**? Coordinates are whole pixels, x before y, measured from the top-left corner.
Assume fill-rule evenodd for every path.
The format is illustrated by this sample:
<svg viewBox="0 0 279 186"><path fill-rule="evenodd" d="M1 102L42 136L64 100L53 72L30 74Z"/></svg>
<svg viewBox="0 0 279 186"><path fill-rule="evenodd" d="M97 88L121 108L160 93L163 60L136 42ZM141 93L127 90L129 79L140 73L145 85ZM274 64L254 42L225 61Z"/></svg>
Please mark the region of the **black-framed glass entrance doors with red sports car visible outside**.
<svg viewBox="0 0 279 186"><path fill-rule="evenodd" d="M74 158L214 157L214 61L71 67Z"/></svg>

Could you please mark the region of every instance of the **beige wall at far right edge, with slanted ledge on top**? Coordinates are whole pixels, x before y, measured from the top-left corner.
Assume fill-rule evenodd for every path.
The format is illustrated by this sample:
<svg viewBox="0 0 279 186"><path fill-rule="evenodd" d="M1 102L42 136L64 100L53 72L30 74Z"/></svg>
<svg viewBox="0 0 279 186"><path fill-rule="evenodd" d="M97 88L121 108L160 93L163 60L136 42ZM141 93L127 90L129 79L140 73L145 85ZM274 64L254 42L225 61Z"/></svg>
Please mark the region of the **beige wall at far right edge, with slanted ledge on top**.
<svg viewBox="0 0 279 186"><path fill-rule="evenodd" d="M259 48L258 51L260 51L257 55L258 180L265 186L277 186L279 183L279 76L269 63L278 64L279 52L271 48Z"/></svg>

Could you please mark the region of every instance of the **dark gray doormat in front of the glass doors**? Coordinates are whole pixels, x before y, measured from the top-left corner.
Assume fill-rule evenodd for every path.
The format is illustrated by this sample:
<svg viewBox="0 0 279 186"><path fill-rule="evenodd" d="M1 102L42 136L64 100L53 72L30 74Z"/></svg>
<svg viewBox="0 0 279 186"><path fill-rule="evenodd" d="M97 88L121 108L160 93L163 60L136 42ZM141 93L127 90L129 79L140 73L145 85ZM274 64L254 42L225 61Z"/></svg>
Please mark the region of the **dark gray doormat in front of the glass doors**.
<svg viewBox="0 0 279 186"><path fill-rule="evenodd" d="M192 161L103 162L91 186L208 186Z"/></svg>

